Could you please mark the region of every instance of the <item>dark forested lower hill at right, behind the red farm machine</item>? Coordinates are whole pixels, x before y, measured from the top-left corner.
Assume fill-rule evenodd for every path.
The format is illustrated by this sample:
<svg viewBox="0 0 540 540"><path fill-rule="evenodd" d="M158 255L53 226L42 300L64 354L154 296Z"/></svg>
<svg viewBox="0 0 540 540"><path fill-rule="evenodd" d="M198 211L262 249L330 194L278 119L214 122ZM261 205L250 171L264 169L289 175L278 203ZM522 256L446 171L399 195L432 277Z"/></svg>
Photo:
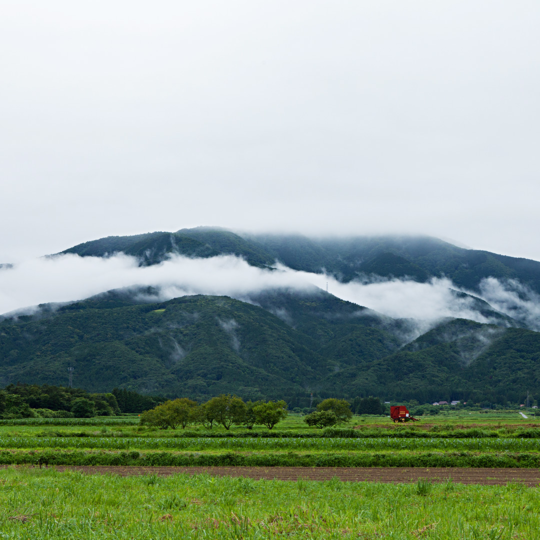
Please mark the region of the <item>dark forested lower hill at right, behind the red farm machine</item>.
<svg viewBox="0 0 540 540"><path fill-rule="evenodd" d="M529 392L540 399L540 333L454 319L396 353L348 368L326 381L326 391L359 396L507 404Z"/></svg>

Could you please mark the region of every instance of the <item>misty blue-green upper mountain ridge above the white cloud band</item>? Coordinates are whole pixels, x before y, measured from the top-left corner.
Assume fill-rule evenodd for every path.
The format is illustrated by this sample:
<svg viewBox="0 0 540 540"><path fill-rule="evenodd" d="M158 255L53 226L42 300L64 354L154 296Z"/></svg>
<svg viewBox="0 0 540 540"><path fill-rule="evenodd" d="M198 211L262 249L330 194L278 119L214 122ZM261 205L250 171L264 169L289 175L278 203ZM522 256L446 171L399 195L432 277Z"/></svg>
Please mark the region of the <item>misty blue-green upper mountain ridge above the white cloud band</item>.
<svg viewBox="0 0 540 540"><path fill-rule="evenodd" d="M216 227L107 237L62 253L104 257L123 252L140 264L156 264L170 254L213 257L232 254L253 266L275 261L296 270L328 272L341 281L380 276L419 282L449 278L458 287L480 292L485 278L515 279L540 293L540 262L465 249L430 237L358 236L308 238L291 234L234 233Z"/></svg>

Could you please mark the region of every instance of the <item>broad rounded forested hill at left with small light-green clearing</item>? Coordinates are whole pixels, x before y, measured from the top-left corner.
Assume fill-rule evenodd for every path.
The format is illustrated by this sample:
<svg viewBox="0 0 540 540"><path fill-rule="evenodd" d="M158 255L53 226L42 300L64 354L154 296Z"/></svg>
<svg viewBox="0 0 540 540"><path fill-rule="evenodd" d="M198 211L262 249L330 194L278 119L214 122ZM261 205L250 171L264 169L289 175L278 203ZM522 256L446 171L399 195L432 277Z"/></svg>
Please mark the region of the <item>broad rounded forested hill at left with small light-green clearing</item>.
<svg viewBox="0 0 540 540"><path fill-rule="evenodd" d="M4 321L5 383L78 386L259 399L298 392L329 368L308 336L264 309L227 297L187 296L154 305L69 309ZM39 366L39 369L36 369Z"/></svg>

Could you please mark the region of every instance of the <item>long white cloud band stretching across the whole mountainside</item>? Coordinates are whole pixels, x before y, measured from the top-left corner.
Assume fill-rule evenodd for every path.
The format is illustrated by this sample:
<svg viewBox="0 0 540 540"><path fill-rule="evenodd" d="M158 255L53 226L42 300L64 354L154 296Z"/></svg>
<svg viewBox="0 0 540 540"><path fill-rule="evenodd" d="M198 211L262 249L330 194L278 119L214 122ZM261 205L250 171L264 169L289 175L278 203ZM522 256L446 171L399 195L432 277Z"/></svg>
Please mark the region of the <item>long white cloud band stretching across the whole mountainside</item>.
<svg viewBox="0 0 540 540"><path fill-rule="evenodd" d="M332 276L249 266L233 255L208 259L175 255L159 265L139 266L138 259L124 254L109 258L66 254L33 259L0 268L0 313L36 311L40 303L70 302L116 288L152 286L157 296L142 301L163 301L186 294L228 295L249 300L265 289L325 289L343 300L372 308L393 318L411 318L426 325L446 317L491 322L481 313L477 300L456 294L448 279L427 283L412 280L352 281L347 284ZM483 280L481 295L492 307L540 330L540 298L519 282ZM427 327L426 327L427 329Z"/></svg>

